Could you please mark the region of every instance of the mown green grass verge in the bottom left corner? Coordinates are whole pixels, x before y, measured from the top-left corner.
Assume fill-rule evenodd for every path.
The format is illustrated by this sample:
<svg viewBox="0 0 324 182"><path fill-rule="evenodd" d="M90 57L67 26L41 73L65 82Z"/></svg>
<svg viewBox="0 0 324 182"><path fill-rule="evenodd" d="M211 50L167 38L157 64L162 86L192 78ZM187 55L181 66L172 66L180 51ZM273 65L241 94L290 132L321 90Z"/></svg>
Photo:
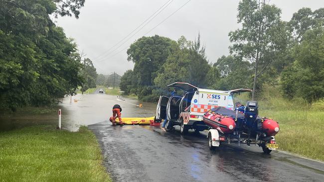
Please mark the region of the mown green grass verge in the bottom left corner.
<svg viewBox="0 0 324 182"><path fill-rule="evenodd" d="M94 134L33 126L0 133L3 182L111 182Z"/></svg>

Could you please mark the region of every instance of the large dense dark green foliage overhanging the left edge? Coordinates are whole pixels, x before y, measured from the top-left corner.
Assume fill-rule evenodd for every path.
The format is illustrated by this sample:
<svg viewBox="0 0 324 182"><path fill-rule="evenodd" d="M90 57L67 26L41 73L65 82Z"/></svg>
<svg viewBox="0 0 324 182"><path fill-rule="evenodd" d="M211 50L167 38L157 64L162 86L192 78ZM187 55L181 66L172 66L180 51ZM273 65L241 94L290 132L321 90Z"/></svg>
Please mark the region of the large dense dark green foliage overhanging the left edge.
<svg viewBox="0 0 324 182"><path fill-rule="evenodd" d="M84 0L0 1L0 105L48 105L82 84L76 45L51 14L78 15ZM60 6L60 4L67 4ZM77 4L77 5L76 5ZM57 7L58 5L58 7Z"/></svg>

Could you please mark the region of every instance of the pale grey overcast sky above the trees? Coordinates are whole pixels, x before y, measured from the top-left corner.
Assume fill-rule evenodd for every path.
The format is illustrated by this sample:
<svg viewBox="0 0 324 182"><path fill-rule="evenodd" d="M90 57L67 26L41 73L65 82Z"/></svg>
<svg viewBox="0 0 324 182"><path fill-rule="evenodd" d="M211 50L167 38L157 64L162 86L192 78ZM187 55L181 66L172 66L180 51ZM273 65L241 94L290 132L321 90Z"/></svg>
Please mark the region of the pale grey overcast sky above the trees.
<svg viewBox="0 0 324 182"><path fill-rule="evenodd" d="M107 75L115 71L123 75L134 67L132 62L127 61L127 48L188 0L170 0L162 12L143 29L128 41L126 40L130 36L116 44L167 1L86 0L79 19L59 17L56 21L68 37L75 39L79 50L83 50L86 57L93 61L98 73ZM194 40L200 32L207 58L213 63L222 55L228 55L228 32L239 28L236 19L238 2L239 0L190 0L146 36L158 34L177 40L183 35L187 40ZM286 21L302 7L310 7L313 11L324 7L324 0L271 0L270 3L282 9L282 19Z"/></svg>

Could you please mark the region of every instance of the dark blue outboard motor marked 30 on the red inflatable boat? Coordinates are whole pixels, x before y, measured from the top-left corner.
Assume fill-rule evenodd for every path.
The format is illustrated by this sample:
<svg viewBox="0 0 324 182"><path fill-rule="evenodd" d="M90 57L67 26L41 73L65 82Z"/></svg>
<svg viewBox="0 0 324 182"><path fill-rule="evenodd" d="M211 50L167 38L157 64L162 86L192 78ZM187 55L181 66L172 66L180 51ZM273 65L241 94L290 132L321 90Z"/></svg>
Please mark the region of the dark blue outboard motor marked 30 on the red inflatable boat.
<svg viewBox="0 0 324 182"><path fill-rule="evenodd" d="M257 119L258 116L258 102L257 101L248 101L246 103L244 117L245 125L250 129L257 129Z"/></svg>

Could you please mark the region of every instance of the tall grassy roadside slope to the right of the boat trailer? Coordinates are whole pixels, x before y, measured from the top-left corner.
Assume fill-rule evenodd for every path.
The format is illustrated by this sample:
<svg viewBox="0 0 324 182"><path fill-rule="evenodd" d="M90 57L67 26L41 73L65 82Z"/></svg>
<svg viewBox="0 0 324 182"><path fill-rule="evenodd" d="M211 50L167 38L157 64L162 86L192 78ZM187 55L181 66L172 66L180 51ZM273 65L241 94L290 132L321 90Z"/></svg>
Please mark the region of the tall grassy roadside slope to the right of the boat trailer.
<svg viewBox="0 0 324 182"><path fill-rule="evenodd" d="M245 93L235 100L246 103ZM306 100L288 99L279 88L267 88L257 99L259 115L279 122L276 140L280 150L324 161L324 100L309 104Z"/></svg>

